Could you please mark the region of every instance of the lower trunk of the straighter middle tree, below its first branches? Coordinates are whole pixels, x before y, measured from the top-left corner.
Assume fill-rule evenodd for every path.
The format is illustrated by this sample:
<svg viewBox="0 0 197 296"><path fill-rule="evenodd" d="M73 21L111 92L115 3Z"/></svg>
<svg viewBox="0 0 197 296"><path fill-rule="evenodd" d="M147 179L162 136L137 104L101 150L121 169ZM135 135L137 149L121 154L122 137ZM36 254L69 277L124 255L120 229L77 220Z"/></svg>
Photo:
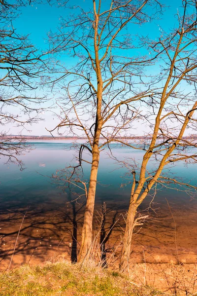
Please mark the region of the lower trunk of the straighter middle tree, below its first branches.
<svg viewBox="0 0 197 296"><path fill-rule="evenodd" d="M86 203L86 210L84 215L84 222L82 228L81 248L79 251L78 261L88 258L89 251L92 245L92 227L93 227L93 213L95 207L95 194L97 186L97 174L99 168L99 148L96 145L93 149L93 161L90 173L90 184L88 190L88 198Z"/></svg>

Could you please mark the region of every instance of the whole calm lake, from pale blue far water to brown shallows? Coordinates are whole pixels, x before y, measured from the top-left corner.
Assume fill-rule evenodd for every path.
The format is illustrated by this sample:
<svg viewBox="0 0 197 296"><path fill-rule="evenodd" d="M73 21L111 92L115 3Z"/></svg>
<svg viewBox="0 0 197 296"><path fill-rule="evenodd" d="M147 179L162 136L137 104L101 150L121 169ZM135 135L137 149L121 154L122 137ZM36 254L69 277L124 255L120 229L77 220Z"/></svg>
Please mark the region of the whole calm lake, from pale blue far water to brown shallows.
<svg viewBox="0 0 197 296"><path fill-rule="evenodd" d="M26 168L23 171L15 164L3 164L4 160L0 159L2 268L9 262L23 214L26 212L28 213L17 241L13 264L45 260L51 258L54 252L72 257L73 252L77 254L79 247L78 243L74 242L76 239L80 242L85 199L70 202L76 196L67 189L64 192L61 188L63 182L58 185L51 178L57 170L73 163L72 144L66 141L34 141L30 144L33 145L33 149L21 156ZM115 158L126 159L128 163L129 158L134 158L136 163L140 164L143 151L121 145L112 145L111 148ZM105 202L106 231L115 224L107 240L110 252L122 235L124 215L130 199L131 176L126 174L127 169L109 157L108 153L109 150L106 149L101 152L100 157L94 229L98 229L101 205ZM88 157L87 155L87 159ZM151 165L154 166L154 161ZM191 180L192 185L197 184L197 165L185 166L184 163L178 163L170 169L174 176L179 176L185 183ZM90 164L85 163L83 171L86 181L90 173ZM148 213L149 218L141 228L136 229L133 238L131 256L135 261L143 260L144 254L150 262L196 260L197 200L195 197L191 199L184 191L167 187L158 187L151 208L147 210L151 196L140 206L139 210L143 214ZM76 189L76 192L79 191Z"/></svg>

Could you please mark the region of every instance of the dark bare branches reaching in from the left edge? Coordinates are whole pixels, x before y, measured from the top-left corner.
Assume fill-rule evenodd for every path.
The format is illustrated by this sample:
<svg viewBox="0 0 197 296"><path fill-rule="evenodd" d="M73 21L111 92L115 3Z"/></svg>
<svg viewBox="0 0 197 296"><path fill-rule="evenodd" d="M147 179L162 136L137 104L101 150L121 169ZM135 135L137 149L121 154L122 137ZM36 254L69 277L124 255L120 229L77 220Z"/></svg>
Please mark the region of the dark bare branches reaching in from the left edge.
<svg viewBox="0 0 197 296"><path fill-rule="evenodd" d="M14 143L7 126L26 127L39 119L44 98L37 97L36 82L42 75L41 55L31 44L28 36L17 34L13 21L19 16L19 9L29 2L0 1L0 156L6 161L17 162L27 146L21 138Z"/></svg>

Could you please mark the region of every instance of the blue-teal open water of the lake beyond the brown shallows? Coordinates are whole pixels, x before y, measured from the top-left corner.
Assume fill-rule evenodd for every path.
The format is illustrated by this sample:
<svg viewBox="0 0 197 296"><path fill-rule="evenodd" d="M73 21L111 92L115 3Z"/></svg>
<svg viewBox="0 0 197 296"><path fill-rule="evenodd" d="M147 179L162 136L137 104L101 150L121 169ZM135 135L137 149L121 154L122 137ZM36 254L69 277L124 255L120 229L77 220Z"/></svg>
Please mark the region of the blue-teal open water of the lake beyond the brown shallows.
<svg viewBox="0 0 197 296"><path fill-rule="evenodd" d="M1 211L17 207L25 208L30 205L35 207L39 203L52 206L58 202L66 202L67 194L58 188L51 176L73 162L74 150L70 149L71 146L72 144L66 141L34 142L33 150L21 157L26 167L23 171L20 171L17 165L3 164L3 159L0 159ZM139 150L120 145L112 145L112 148L113 155L118 159L132 157L137 163L142 159L143 152ZM110 207L120 205L123 209L127 209L131 190L130 176L125 176L126 168L111 159L108 152L107 149L101 152L96 202L105 201ZM186 167L183 163L179 163L172 166L171 171L175 176L181 177L184 182L192 180L191 184L197 183L197 164ZM85 163L85 180L89 172L90 165ZM126 185L122 187L121 184ZM196 204L195 199L190 201L190 196L185 192L168 188L160 188L155 201L159 204L166 203L165 197L174 206L187 205L190 208Z"/></svg>

